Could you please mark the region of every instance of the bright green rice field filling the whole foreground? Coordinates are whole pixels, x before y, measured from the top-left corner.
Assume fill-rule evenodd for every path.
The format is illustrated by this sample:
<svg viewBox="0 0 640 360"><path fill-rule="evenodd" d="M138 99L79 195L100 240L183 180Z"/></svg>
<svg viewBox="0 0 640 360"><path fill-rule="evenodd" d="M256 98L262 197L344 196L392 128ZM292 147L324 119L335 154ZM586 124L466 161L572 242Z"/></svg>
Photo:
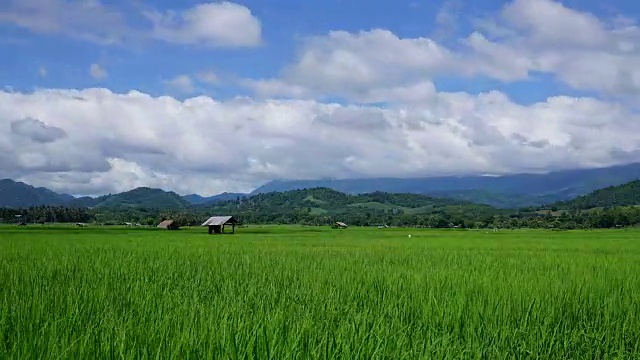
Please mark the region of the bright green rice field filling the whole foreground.
<svg viewBox="0 0 640 360"><path fill-rule="evenodd" d="M638 358L639 274L637 230L3 227L0 358Z"/></svg>

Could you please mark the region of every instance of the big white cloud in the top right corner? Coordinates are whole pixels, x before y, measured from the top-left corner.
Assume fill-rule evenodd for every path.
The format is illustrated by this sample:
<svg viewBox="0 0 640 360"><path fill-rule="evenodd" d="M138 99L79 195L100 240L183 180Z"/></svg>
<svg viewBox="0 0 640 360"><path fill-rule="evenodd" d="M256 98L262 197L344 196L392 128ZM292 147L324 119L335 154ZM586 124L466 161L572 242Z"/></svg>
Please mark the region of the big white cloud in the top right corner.
<svg viewBox="0 0 640 360"><path fill-rule="evenodd" d="M549 73L578 90L639 95L640 28L552 0L515 0L467 42L484 73L526 78ZM486 25L489 25L487 27ZM489 29L489 30L487 30ZM496 35L495 39L490 39Z"/></svg>

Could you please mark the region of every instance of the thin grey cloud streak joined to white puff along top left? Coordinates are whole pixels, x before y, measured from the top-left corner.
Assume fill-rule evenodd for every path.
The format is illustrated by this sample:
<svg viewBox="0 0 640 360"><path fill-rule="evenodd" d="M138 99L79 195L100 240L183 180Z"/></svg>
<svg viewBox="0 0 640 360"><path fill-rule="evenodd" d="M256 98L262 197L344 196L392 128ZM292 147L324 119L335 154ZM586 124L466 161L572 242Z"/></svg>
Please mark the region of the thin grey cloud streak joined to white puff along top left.
<svg viewBox="0 0 640 360"><path fill-rule="evenodd" d="M0 24L101 44L156 39L175 44L243 47L261 43L262 27L249 8L232 2L199 4L158 12L137 4L130 9L100 0L7 0ZM131 5L131 4L129 4ZM141 22L132 15L142 15Z"/></svg>

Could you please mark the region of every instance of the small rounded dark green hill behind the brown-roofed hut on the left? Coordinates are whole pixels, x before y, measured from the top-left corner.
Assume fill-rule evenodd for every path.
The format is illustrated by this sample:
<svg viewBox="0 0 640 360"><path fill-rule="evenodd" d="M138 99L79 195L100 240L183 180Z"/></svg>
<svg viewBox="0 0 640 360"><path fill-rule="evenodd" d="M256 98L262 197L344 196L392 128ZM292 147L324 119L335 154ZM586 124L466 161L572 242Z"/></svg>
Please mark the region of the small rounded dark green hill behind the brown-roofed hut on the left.
<svg viewBox="0 0 640 360"><path fill-rule="evenodd" d="M96 208L146 208L146 209L186 209L190 206L180 195L172 191L139 187L123 193L108 196L95 205Z"/></svg>

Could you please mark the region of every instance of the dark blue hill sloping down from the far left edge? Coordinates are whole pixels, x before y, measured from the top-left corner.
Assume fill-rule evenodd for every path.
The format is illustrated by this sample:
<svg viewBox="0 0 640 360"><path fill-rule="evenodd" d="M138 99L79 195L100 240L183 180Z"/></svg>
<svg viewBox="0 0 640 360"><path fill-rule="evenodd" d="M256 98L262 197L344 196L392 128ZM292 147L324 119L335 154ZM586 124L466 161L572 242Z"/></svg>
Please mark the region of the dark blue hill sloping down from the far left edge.
<svg viewBox="0 0 640 360"><path fill-rule="evenodd" d="M10 179L0 180L0 207L63 205L68 198L46 188L36 188Z"/></svg>

